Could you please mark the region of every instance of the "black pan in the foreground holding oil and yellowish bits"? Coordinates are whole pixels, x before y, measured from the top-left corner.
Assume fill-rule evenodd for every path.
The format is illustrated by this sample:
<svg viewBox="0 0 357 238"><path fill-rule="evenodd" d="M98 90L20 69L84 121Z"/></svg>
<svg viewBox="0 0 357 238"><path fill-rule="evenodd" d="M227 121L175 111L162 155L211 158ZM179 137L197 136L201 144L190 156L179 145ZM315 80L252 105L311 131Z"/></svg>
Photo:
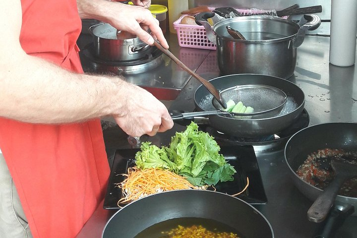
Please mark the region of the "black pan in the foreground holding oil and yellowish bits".
<svg viewBox="0 0 357 238"><path fill-rule="evenodd" d="M269 222L250 204L225 193L193 189L161 192L131 202L110 218L102 238L134 238L175 218L211 219L234 228L244 238L274 238Z"/></svg>

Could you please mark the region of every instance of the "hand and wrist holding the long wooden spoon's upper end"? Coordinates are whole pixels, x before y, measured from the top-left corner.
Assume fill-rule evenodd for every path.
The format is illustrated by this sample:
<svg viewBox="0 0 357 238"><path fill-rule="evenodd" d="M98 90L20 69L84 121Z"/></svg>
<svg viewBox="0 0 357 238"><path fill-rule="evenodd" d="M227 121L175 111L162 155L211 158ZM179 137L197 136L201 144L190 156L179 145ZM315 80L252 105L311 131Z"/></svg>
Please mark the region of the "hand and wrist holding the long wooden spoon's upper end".
<svg viewBox="0 0 357 238"><path fill-rule="evenodd" d="M138 1L147 4L147 1ZM148 28L151 34L165 47L169 45L156 20L150 10L143 6L127 5L120 2L108 0L77 0L78 12L82 19L93 18L107 22L113 27L128 31L139 37L143 42L153 45L154 39L147 32Z"/></svg>

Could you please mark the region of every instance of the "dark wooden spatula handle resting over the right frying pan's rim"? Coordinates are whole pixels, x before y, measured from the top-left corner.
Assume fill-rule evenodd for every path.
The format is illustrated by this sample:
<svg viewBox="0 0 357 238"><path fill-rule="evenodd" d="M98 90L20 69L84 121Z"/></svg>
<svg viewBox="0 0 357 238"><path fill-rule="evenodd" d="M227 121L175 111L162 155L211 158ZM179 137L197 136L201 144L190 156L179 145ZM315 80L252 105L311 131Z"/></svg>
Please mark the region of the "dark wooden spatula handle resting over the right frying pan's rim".
<svg viewBox="0 0 357 238"><path fill-rule="evenodd" d="M317 197L307 211L309 221L323 222L325 220L345 179L344 176L336 174L336 177L325 188L324 192Z"/></svg>

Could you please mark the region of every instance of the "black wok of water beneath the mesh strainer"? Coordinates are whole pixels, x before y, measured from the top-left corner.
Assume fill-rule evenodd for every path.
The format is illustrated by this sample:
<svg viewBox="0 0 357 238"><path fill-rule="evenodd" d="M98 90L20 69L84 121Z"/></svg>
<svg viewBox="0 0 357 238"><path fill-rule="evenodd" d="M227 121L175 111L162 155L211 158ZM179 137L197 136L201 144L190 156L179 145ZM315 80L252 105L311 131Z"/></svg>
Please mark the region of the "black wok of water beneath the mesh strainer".
<svg viewBox="0 0 357 238"><path fill-rule="evenodd" d="M237 119L218 115L208 117L212 127L228 135L260 137L279 133L292 125L304 109L304 93L296 84L286 79L261 74L232 74L214 78L210 82L218 90L224 90L236 85L270 85L284 91L288 96L288 101L294 101L294 106L287 104L281 114L270 118ZM215 110L212 101L210 101L211 99L209 91L199 86L194 93L194 103L197 111Z"/></svg>

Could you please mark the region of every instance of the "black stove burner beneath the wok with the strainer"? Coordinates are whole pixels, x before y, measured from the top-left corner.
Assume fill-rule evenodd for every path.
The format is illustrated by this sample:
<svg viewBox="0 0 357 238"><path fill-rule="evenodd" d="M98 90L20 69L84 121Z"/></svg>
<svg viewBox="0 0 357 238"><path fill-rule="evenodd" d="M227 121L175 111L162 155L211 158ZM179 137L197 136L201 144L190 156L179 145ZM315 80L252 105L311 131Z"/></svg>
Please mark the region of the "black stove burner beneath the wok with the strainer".
<svg viewBox="0 0 357 238"><path fill-rule="evenodd" d="M283 131L269 136L256 137L256 138L245 138L237 137L232 135L227 135L222 132L217 131L210 125L199 125L199 128L203 131L208 132L212 135L218 144L220 145L253 145L253 146L266 146L266 145L277 145L284 146L288 139L295 134L300 129L308 126L310 122L310 117L307 111L304 109L301 115L296 119L296 121L284 129Z"/></svg>

